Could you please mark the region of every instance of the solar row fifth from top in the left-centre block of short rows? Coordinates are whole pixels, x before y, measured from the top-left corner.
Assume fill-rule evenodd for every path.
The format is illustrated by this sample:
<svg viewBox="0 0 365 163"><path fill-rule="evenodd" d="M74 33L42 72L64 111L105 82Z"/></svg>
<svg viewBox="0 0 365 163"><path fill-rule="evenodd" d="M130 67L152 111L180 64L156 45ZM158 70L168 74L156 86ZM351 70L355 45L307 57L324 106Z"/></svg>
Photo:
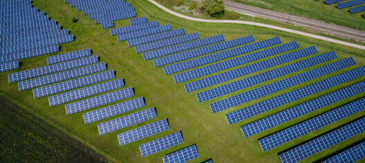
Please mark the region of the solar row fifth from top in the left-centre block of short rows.
<svg viewBox="0 0 365 163"><path fill-rule="evenodd" d="M91 85L88 87L76 89L73 91L68 91L63 94L57 94L55 96L48 97L50 107L59 105L65 102L70 102L72 100L77 100L80 98L85 98L88 96L93 96L95 94L100 94L105 91L111 91L113 89L118 89L124 87L123 79L118 78L105 83L100 83L97 85Z"/></svg>

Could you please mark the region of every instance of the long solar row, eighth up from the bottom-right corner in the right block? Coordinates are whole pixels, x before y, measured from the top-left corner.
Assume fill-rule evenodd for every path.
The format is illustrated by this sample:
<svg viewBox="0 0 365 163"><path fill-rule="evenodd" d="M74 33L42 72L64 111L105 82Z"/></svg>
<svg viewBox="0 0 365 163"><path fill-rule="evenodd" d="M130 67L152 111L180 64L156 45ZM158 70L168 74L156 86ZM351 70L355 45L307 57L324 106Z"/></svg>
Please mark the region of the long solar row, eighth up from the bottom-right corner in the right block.
<svg viewBox="0 0 365 163"><path fill-rule="evenodd" d="M270 55L271 53L268 53L266 55ZM290 53L290 54L286 54L286 55L282 55L282 56L277 56L275 58L271 58L265 61L261 61L259 63L254 63L252 65L247 65L244 67L239 67L237 69L232 69L228 72L223 72L221 74L216 74L214 76L209 76L207 78L202 78L199 80L195 80L191 83L186 83L185 86L185 90L187 92L190 91L195 91L198 89L202 89L204 87L209 87L210 85L215 85L218 83L222 83L224 81L227 80L231 80L233 78L238 78L240 76L244 76L246 74L250 74L253 72L258 72L262 69L266 69L269 67L273 67L276 65L280 65L282 63L286 63L289 61L293 61L297 58L301 58L303 56L308 56L309 54L312 54L312 52L303 52L303 53L299 53L299 54L294 54L294 53ZM274 55L274 54L272 54ZM256 57L255 57L256 56ZM241 61L242 64L244 63L249 63L251 61L256 61L257 59L260 59L261 57L265 57L265 54L257 57L259 55L256 54L248 54L245 55L245 61Z"/></svg>

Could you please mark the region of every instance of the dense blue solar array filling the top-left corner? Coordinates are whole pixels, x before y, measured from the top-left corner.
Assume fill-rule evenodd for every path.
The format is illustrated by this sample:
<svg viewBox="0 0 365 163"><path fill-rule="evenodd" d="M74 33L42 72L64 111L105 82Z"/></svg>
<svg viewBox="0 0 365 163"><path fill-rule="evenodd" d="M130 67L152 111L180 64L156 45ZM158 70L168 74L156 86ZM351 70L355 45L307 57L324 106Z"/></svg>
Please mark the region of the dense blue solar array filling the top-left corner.
<svg viewBox="0 0 365 163"><path fill-rule="evenodd" d="M58 44L73 41L68 30L32 8L29 0L2 2L0 72L19 68L20 59L58 52Z"/></svg>

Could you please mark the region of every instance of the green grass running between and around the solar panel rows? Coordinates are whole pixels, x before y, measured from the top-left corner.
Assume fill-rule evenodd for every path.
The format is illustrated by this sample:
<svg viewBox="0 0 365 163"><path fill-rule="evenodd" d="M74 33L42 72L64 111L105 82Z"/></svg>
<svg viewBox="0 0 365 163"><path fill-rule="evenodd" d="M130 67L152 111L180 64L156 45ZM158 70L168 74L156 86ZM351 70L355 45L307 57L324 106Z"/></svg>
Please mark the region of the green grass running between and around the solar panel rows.
<svg viewBox="0 0 365 163"><path fill-rule="evenodd" d="M160 22L160 25L171 24L174 29L185 28L187 33L199 32L202 38L214 36L217 34L224 34L226 40L231 40L241 36L253 34L256 41L262 41L264 39L270 39L274 36L280 36L283 43L298 41L301 48L316 45L317 49L319 50L318 54L322 54L330 50L335 50L335 52L337 52L337 55L339 56L336 61L342 58L353 56L355 58L355 61L357 61L357 65L351 67L351 69L359 67L360 65L365 65L364 50L357 50L342 45L328 43L325 41L319 41L303 36L288 34L286 32L279 32L277 30L256 28L250 25L199 23L186 21L185 19L179 19L178 17L174 17L170 14L162 12L162 10L156 8L156 6L153 6L147 1L129 0L129 2L135 8L138 17L145 16L149 19L149 21L158 20ZM313 94L312 96L304 98L301 101L292 102L289 105L273 109L272 111L268 111L259 116L255 116L254 118L249 118L234 125L228 125L227 121L225 120L225 113L229 113L236 109L241 109L245 106L252 105L256 102L272 98L298 87L303 87L305 85L309 85L310 83L315 83L315 81L323 80L324 78L334 76L335 74L339 74L340 72L344 71L339 71L326 76L322 76L321 78L310 80L310 82L308 83L290 87L289 89L279 91L276 94L265 96L257 100L252 100L251 102L246 102L243 105L238 105L231 109L221 111L220 113L213 114L209 109L209 103L226 98L227 96L198 103L195 96L197 91L186 94L183 87L184 83L174 84L172 76L165 76L163 74L162 67L155 68L152 61L144 61L141 54L135 54L134 48L127 46L126 41L118 42L116 36L111 36L109 30L102 30L100 25L95 25L94 20L88 19L88 16L83 15L82 12L77 11L76 8L71 8L69 4L66 5L64 1L59 0L34 0L32 5L46 12L48 17L57 20L64 29L68 29L69 31L71 31L71 34L75 36L75 41L62 44L62 48L57 54L72 52L75 50L82 50L88 47L91 48L91 50L93 50L93 55L100 56L100 62L107 63L108 69L115 70L117 78L124 78L126 87L134 88L135 98L140 96L143 96L145 98L146 107L143 107L142 109L156 107L158 118L100 136L97 133L97 123L124 116L132 112L140 111L142 109L135 109L135 111L123 113L119 116L113 116L99 122L84 124L82 113L86 111L66 116L64 105L48 107L48 99L46 97L33 99L32 90L17 91L16 83L8 83L7 74L44 66L46 65L46 56L50 56L53 54L21 60L22 65L20 69L0 73L1 91L3 91L4 94L11 96L15 100L21 101L24 105L35 109L38 113L48 117L53 122L59 124L62 128L71 131L72 133L75 133L80 138L85 140L86 145L93 147L93 149L96 149L97 153L104 154L111 162L162 162L163 155L174 152L178 149L185 148L187 146L190 146L191 144L196 144L199 152L199 157L194 159L194 162L203 162L204 160L207 160L209 158L212 158L214 162L280 162L277 153L285 151L295 144L310 140L317 135L341 126L341 124L350 122L351 120L355 120L356 118L365 115L365 112L362 111L361 113L357 113L354 116L350 116L348 118L345 118L344 120L339 120L338 122L330 124L327 127L324 127L324 129L319 129L315 132L305 135L301 139L294 140L292 142L279 146L276 149L272 149L271 151L263 153L261 151L259 143L257 142L259 138L262 138L263 136L270 133L274 133L275 131L279 131L280 129L288 127L292 124L296 124L297 122L301 122L302 120L315 116L318 113L322 113L324 111L328 111L329 109L344 105L346 102L355 100L359 97L364 96L365 94L359 94L344 101L337 102L335 103L335 105L330 105L323 109L319 109L318 111L309 113L308 116L303 116L301 118L291 120L286 124L280 125L279 127L274 127L263 133L253 135L250 138L243 138L243 135L239 129L241 125L268 116L270 115L270 113L274 113L288 107L298 105L301 102L305 102L306 100L310 100L317 96L327 94L328 92L335 89L345 87L350 83L356 83L359 80L364 80L365 77L363 76L362 78L352 80L346 85L333 87L326 91L320 92L319 94ZM72 23L69 13L73 17L76 17L79 21L77 21L77 23ZM129 20L127 19L115 21L115 27L121 27L126 25L129 25ZM294 63L294 61L290 63ZM325 65L327 63L321 65ZM286 63L284 65L287 64L289 63ZM315 67L319 66L320 65L316 65ZM313 69L315 67L310 67L308 69ZM300 72L308 71L308 69ZM254 74L259 74L264 71L256 72ZM254 74L249 74L247 76L253 76ZM293 75L294 74L289 74L281 78L276 78L274 80L268 81L268 83L272 83L273 81L281 80L283 78L287 78L288 76ZM247 76L242 76L241 78L247 78ZM235 80L239 80L241 78L236 78ZM225 83L221 83L220 85L223 85ZM241 93L242 91L254 89L261 85L254 85L252 87L248 87L247 89L243 89L229 95L232 96L234 94ZM97 107L95 109L99 108L101 107ZM155 122L157 119L161 120L164 118L168 118L169 120L170 129L168 131L158 133L149 138L145 138L131 144L119 146L117 138L118 133L122 133L124 131L134 129L135 127L139 127L150 122ZM149 155L147 157L141 157L140 151L138 149L139 144L149 142L150 140L160 138L163 135L174 133L176 131L182 131L182 135L184 138L184 142L182 144L178 144L177 146L171 147L164 151L160 151L153 155ZM335 151L338 151L345 146L353 144L354 142L362 140L363 138L365 138L365 133L359 134L354 138L350 138L346 142L341 142L326 151L313 155L312 157L308 157L308 159L303 160L303 162L316 161L321 157L325 157L330 153L334 153Z"/></svg>

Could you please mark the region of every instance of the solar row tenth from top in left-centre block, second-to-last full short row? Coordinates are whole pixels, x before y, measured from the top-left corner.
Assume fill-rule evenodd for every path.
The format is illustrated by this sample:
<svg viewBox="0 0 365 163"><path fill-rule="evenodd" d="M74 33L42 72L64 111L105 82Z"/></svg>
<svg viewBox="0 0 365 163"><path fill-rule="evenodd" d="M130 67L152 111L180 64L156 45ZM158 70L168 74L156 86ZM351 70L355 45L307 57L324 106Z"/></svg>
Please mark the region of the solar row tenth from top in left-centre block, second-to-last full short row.
<svg viewBox="0 0 365 163"><path fill-rule="evenodd" d="M170 135L165 135L162 138L158 138L156 140L152 140L151 142L141 144L140 152L142 154L142 157L146 157L147 155L162 151L182 142L184 142L184 140L182 140L182 135L180 131L177 131L176 133L171 133Z"/></svg>

